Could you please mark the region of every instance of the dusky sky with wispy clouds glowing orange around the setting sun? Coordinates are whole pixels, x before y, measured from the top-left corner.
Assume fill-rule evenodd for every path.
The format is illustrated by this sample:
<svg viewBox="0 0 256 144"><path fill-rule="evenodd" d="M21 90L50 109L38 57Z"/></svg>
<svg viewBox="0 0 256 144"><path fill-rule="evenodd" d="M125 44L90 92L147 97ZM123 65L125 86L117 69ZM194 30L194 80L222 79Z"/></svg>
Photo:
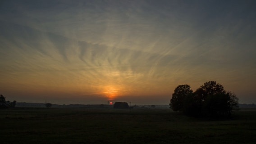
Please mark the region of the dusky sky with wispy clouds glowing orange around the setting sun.
<svg viewBox="0 0 256 144"><path fill-rule="evenodd" d="M216 81L256 103L255 0L1 0L0 94L169 104Z"/></svg>

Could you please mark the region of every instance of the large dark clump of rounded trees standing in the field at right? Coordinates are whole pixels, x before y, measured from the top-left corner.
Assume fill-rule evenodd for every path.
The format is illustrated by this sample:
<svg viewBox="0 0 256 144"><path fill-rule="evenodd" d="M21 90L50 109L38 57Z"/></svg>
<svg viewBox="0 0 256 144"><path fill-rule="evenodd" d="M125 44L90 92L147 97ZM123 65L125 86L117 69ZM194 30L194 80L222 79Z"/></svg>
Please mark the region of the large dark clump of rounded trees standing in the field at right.
<svg viewBox="0 0 256 144"><path fill-rule="evenodd" d="M238 109L238 97L224 90L216 81L208 81L195 92L189 85L178 85L170 100L170 108L189 116L229 117Z"/></svg>

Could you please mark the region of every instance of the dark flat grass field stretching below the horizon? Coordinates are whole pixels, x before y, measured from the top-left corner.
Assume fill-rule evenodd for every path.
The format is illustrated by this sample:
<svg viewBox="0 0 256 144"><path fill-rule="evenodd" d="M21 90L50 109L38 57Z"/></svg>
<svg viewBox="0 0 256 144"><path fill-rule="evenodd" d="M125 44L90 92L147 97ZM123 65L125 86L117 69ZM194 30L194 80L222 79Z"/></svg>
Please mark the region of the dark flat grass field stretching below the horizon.
<svg viewBox="0 0 256 144"><path fill-rule="evenodd" d="M228 120L170 109L1 109L0 143L256 144L256 109L241 109Z"/></svg>

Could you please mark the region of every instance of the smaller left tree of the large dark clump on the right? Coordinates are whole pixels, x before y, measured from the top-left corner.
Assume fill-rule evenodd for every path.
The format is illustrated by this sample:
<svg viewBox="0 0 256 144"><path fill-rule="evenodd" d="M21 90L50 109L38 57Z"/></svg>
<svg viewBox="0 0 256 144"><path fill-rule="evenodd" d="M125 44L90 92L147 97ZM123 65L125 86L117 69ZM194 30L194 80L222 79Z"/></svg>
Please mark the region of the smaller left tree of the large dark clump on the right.
<svg viewBox="0 0 256 144"><path fill-rule="evenodd" d="M184 98L192 92L189 85L178 85L170 100L170 108L174 111L183 111Z"/></svg>

